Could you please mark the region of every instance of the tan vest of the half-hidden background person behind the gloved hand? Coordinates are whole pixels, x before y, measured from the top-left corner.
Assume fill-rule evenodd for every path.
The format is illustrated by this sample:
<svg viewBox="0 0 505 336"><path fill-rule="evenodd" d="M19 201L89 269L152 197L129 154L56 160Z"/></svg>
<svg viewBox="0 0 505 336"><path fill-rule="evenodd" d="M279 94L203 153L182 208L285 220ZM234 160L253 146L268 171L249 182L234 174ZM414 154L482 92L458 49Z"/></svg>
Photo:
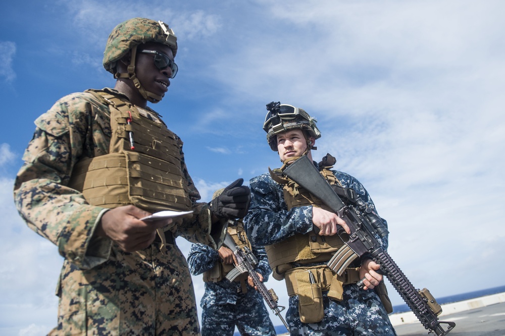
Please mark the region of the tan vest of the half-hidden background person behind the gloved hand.
<svg viewBox="0 0 505 336"><path fill-rule="evenodd" d="M252 246L247 236L245 235L244 224L242 219L236 221L236 226L228 227L228 234L233 239L238 248L243 249L247 247L252 251ZM233 264L225 264L222 260L216 262L214 267L208 271L204 272L204 282L220 282L222 279L226 278L226 275L234 268ZM240 282L240 287L242 293L247 293L247 273L240 274L235 278L235 282Z"/></svg>

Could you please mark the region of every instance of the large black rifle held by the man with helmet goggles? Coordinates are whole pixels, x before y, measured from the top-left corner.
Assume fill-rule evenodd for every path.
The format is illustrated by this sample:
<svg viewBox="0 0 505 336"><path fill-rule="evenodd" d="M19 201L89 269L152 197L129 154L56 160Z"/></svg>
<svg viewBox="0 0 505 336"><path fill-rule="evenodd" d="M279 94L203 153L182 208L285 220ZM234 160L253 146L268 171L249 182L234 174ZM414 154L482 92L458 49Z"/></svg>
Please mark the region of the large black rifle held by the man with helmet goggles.
<svg viewBox="0 0 505 336"><path fill-rule="evenodd" d="M391 285L407 303L416 317L421 321L429 334L438 336L447 334L455 327L454 322L438 320L442 308L430 292L424 288L416 290L407 276L399 269L389 254L382 248L378 237L385 237L388 232L382 219L367 207L366 203L357 198L355 204L346 205L333 190L328 181L319 173L308 156L301 156L291 163L283 172L299 186L323 201L330 209L342 218L350 229L350 234L337 226L337 234L344 245L333 255L327 265L336 274L342 275L345 268L356 258L373 259L380 265L379 271L386 275ZM363 279L358 283L363 287ZM442 323L447 324L444 330Z"/></svg>

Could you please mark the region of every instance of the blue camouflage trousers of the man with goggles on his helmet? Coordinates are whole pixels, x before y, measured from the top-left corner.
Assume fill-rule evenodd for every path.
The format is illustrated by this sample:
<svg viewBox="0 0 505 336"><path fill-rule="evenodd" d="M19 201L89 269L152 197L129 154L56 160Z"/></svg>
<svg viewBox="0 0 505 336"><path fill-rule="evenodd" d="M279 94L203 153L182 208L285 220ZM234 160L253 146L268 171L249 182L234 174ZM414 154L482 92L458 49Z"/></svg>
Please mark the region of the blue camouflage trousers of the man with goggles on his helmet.
<svg viewBox="0 0 505 336"><path fill-rule="evenodd" d="M289 298L286 321L291 335L321 336L396 336L386 310L373 290L345 285L342 301L333 301L323 292L324 318L319 323L302 323L299 298Z"/></svg>

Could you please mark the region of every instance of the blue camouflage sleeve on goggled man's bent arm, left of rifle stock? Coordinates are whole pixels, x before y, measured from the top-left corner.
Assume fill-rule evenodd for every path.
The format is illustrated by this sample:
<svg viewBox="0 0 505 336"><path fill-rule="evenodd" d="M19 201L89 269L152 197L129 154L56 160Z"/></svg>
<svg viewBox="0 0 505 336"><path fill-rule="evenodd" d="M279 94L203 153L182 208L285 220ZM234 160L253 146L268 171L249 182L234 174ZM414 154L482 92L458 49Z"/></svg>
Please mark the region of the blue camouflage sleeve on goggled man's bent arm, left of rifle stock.
<svg viewBox="0 0 505 336"><path fill-rule="evenodd" d="M312 206L287 210L281 186L269 174L249 181L251 203L244 218L247 237L254 246L280 242L295 233L312 230Z"/></svg>

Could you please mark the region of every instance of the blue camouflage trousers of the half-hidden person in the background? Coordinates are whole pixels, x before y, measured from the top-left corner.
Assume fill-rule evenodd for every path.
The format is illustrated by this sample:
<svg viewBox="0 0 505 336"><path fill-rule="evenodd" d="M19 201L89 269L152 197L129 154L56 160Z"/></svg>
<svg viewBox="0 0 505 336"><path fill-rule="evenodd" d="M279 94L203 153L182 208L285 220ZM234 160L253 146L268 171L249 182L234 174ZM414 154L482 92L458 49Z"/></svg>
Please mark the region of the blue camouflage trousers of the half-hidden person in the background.
<svg viewBox="0 0 505 336"><path fill-rule="evenodd" d="M202 336L232 336L235 325L241 335L275 336L263 297L249 288L236 304L214 304L201 314Z"/></svg>

